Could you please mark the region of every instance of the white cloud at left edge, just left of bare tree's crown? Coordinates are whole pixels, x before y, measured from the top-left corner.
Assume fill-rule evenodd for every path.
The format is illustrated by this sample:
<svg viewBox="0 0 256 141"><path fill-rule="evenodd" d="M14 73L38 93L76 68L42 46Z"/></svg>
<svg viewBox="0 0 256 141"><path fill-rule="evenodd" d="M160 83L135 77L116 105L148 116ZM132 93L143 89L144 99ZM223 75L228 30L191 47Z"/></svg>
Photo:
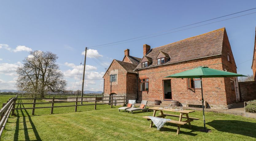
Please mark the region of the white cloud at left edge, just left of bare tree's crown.
<svg viewBox="0 0 256 141"><path fill-rule="evenodd" d="M0 74L15 76L17 67L22 66L21 62L14 64L0 63Z"/></svg>

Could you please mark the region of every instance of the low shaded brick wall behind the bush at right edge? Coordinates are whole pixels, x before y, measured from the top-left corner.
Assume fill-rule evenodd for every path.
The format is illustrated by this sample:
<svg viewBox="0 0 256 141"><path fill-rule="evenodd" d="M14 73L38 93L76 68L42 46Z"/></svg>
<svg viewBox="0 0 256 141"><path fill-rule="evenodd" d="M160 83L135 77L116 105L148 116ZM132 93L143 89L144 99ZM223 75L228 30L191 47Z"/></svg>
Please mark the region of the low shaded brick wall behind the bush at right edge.
<svg viewBox="0 0 256 141"><path fill-rule="evenodd" d="M241 101L250 101L256 99L256 82L239 82Z"/></svg>

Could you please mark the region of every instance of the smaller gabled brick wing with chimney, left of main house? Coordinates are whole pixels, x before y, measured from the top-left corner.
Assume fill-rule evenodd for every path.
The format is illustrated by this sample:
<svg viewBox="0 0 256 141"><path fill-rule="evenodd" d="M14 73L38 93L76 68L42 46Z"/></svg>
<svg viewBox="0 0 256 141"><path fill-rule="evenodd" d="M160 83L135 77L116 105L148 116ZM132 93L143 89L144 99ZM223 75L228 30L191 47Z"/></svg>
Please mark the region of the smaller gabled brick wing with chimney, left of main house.
<svg viewBox="0 0 256 141"><path fill-rule="evenodd" d="M141 58L130 56L129 49L124 51L122 61L114 59L104 74L104 96L126 95L127 99L137 99L138 75L133 71Z"/></svg>

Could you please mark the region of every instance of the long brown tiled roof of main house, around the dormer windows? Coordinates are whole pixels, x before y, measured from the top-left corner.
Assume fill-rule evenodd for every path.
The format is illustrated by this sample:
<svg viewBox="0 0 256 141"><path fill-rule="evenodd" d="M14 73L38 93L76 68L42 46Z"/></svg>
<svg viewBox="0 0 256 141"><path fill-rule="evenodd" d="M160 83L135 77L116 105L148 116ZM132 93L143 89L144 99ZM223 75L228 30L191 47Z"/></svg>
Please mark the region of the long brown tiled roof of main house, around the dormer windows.
<svg viewBox="0 0 256 141"><path fill-rule="evenodd" d="M149 58L153 58L153 63L149 64L149 67L157 66L157 60L155 58L160 51L165 52L165 54L171 57L165 64L221 54L223 36L224 33L226 33L224 31L225 28L221 28L175 43L153 48L146 55ZM135 69L140 68L141 65L138 65Z"/></svg>

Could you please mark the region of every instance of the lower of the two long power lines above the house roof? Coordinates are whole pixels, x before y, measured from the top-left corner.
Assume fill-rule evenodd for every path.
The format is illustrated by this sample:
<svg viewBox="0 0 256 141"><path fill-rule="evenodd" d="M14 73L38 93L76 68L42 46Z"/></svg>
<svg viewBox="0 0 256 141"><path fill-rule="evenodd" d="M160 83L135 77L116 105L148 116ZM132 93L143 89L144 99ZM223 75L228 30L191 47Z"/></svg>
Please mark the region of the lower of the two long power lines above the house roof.
<svg viewBox="0 0 256 141"><path fill-rule="evenodd" d="M256 12L249 13L249 14L244 14L244 15L237 16L237 17L242 17L242 16L254 14L254 13L256 13ZM210 25L210 24L213 24L213 23L230 20L230 19L234 19L234 18L237 18L237 17L232 17L232 18L228 18L228 19L224 19L224 20L220 20L220 21L215 21L215 22L211 22L211 23L208 23L208 24L204 24L204 25ZM190 28L186 28L186 29L181 29L181 30L177 30L177 31L173 31L173 32L168 32L168 33L164 33L164 34L160 34L160 35L156 35L156 36L146 37L146 38L142 38L142 39L138 39L138 40L153 38L153 37L162 36L162 35L166 35L166 34L170 34L170 33L174 33L174 32L180 32L180 31L183 31L183 30L193 29L193 28L196 28L196 27L204 26L204 25L198 25L198 26L194 26L194 27L190 27ZM132 40L132 41L123 42L123 43L119 43L119 44L125 44L125 43L134 42L134 41L138 41L138 40ZM111 45L107 45L107 46L103 46L103 47L108 47L108 46L113 46L113 45L118 45L118 44L111 44ZM103 48L103 47L96 47L96 48Z"/></svg>

